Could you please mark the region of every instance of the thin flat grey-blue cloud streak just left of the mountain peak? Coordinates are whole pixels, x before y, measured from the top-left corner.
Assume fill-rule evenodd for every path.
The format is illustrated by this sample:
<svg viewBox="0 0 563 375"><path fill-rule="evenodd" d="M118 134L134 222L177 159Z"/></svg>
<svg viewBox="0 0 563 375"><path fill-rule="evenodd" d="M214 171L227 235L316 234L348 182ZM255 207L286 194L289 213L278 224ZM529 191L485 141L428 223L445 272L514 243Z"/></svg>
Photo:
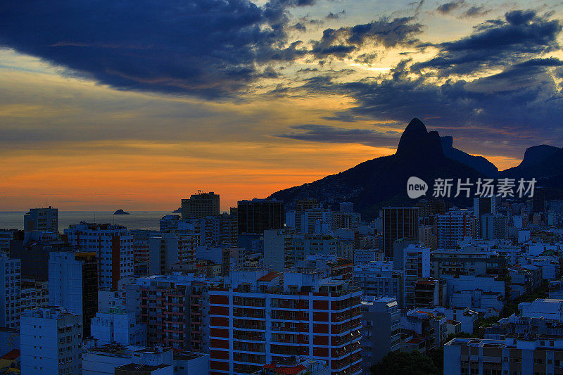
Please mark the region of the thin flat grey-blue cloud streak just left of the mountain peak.
<svg viewBox="0 0 563 375"><path fill-rule="evenodd" d="M289 132L275 136L299 141L365 144L380 147L397 146L400 137L400 133L394 131L377 132L373 129L346 129L329 125L305 124L293 125L290 128L301 132Z"/></svg>

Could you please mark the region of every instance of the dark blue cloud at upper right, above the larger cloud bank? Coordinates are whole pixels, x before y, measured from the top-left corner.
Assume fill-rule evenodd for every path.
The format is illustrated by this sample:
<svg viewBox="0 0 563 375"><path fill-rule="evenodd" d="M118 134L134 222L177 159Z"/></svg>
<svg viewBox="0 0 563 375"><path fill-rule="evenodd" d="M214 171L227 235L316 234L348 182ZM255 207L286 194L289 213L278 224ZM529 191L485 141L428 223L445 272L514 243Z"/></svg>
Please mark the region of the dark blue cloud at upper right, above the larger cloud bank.
<svg viewBox="0 0 563 375"><path fill-rule="evenodd" d="M435 69L438 75L472 74L488 68L518 63L538 53L559 49L559 20L548 20L535 11L511 11L505 20L482 28L455 42L438 44L436 58L413 65L413 70Z"/></svg>

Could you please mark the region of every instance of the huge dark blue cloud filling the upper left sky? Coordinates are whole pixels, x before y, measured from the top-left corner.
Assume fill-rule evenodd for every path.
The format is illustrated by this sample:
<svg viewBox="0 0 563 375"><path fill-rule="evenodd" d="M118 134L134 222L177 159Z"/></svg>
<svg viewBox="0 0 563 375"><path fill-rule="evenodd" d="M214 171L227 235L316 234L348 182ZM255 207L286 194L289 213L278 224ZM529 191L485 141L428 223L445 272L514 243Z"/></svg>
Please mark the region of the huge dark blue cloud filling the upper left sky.
<svg viewBox="0 0 563 375"><path fill-rule="evenodd" d="M291 61L287 8L312 0L11 1L0 46L63 65L118 89L226 96Z"/></svg>

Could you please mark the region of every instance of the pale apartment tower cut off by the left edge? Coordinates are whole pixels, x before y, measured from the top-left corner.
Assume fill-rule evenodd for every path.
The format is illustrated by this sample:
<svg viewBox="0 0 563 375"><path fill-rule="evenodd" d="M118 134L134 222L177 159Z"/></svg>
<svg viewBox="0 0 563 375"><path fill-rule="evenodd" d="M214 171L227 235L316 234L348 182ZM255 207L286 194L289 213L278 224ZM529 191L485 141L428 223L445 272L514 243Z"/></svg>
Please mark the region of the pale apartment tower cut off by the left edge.
<svg viewBox="0 0 563 375"><path fill-rule="evenodd" d="M21 273L20 260L0 257L0 327L20 325Z"/></svg>

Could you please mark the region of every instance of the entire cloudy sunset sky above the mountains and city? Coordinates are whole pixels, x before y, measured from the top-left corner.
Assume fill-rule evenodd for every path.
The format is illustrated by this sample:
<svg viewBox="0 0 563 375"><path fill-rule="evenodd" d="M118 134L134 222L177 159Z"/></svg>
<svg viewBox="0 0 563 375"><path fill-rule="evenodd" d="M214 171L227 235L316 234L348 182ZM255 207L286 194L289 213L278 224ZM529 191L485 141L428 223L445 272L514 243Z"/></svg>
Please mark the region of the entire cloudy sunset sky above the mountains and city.
<svg viewBox="0 0 563 375"><path fill-rule="evenodd" d="M221 208L395 152L412 117L499 169L563 146L561 1L0 7L0 210Z"/></svg>

